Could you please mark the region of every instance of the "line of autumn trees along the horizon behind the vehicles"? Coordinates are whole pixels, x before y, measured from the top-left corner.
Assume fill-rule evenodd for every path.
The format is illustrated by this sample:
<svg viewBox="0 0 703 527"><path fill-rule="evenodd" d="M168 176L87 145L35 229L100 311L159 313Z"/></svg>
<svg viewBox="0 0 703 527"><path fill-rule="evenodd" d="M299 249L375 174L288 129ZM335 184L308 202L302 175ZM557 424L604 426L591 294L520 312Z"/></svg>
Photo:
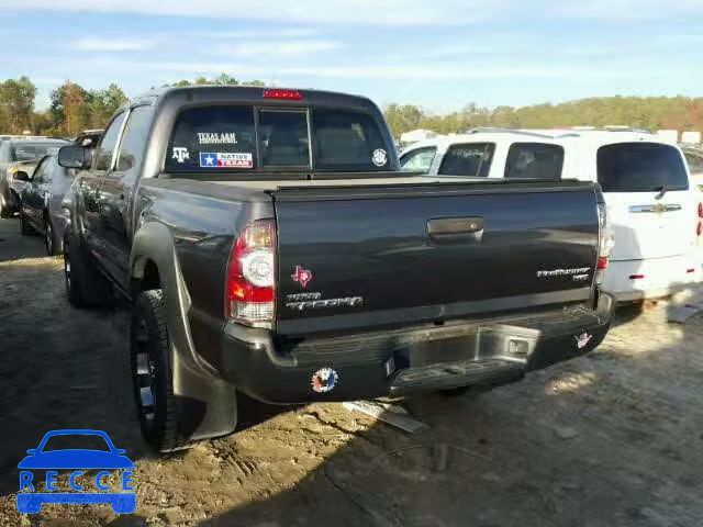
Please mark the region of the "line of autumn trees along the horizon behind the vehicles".
<svg viewBox="0 0 703 527"><path fill-rule="evenodd" d="M165 86L211 83L264 86L259 80L239 81L226 74L212 79L183 79ZM36 110L36 87L27 77L0 82L0 133L75 136L81 130L104 127L112 113L127 100L114 82L104 89L86 89L67 80L51 92L46 110ZM470 103L443 115L411 104L389 104L383 111L395 137L415 128L448 134L481 126L557 128L627 125L652 131L703 132L703 98L687 97L607 97L495 109Z"/></svg>

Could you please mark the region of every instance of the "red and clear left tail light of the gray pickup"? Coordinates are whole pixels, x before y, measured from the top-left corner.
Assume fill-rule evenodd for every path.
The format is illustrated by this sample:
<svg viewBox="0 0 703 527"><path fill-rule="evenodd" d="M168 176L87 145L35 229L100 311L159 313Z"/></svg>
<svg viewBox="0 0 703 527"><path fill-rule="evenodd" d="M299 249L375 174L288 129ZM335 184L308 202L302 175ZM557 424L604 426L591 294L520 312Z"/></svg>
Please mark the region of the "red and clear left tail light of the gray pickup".
<svg viewBox="0 0 703 527"><path fill-rule="evenodd" d="M276 222L249 223L234 243L227 268L226 316L244 324L274 321Z"/></svg>

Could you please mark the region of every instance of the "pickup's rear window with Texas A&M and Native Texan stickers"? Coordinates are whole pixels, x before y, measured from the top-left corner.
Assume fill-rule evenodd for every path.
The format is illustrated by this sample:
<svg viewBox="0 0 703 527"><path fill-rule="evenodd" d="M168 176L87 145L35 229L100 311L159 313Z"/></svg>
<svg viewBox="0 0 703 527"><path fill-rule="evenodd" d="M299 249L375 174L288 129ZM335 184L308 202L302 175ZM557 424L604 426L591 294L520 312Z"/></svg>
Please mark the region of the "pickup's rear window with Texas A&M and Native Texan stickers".
<svg viewBox="0 0 703 527"><path fill-rule="evenodd" d="M378 171L391 169L389 155L378 123L361 112L200 106L178 116L166 170L310 170L312 164L323 171Z"/></svg>

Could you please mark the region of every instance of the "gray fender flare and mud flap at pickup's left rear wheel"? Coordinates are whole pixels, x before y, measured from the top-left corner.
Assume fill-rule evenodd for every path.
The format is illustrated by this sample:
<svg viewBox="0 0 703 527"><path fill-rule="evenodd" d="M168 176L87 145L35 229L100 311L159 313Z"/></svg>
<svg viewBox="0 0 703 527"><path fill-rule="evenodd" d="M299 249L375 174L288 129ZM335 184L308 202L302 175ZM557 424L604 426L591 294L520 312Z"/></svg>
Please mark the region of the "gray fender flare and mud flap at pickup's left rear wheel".
<svg viewBox="0 0 703 527"><path fill-rule="evenodd" d="M236 388L216 374L196 351L188 312L191 298L182 277L170 229L159 222L143 223L132 243L130 276L144 278L148 261L158 268L171 344L171 375L179 424L190 439L216 437L236 427ZM137 291L132 291L135 296Z"/></svg>

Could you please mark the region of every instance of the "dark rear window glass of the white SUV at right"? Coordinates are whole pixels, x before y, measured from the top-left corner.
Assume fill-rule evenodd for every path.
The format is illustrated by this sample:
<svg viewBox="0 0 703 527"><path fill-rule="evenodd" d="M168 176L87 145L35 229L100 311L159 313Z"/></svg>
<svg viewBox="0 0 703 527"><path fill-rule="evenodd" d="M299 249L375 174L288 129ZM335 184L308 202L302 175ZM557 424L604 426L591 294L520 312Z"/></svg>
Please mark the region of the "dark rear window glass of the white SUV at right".
<svg viewBox="0 0 703 527"><path fill-rule="evenodd" d="M669 145L622 143L598 150L598 182L604 192L688 190L679 150Z"/></svg>

